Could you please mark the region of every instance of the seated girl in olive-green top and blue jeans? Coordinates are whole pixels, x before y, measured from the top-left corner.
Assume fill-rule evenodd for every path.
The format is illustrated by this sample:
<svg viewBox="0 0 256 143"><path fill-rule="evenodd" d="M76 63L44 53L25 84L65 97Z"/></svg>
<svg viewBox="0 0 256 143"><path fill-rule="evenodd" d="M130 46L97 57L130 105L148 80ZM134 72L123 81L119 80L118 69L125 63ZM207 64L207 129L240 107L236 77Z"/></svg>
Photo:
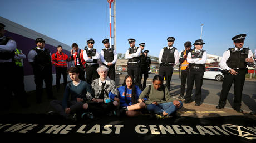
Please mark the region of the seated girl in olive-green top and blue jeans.
<svg viewBox="0 0 256 143"><path fill-rule="evenodd" d="M170 116L171 113L183 106L181 101L171 98L168 88L163 85L163 79L159 75L154 76L153 86L147 86L140 94L139 99L142 100L146 96L147 110L151 113Z"/></svg>

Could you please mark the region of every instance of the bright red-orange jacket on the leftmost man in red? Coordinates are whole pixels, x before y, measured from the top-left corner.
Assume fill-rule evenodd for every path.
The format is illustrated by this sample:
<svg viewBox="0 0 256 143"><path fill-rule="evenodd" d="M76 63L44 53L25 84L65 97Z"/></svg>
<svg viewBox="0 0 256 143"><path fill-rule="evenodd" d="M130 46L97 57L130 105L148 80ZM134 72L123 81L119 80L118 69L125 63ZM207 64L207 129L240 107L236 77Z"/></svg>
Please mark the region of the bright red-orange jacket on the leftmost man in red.
<svg viewBox="0 0 256 143"><path fill-rule="evenodd" d="M52 54L52 64L56 67L67 67L68 56L65 53L54 53Z"/></svg>

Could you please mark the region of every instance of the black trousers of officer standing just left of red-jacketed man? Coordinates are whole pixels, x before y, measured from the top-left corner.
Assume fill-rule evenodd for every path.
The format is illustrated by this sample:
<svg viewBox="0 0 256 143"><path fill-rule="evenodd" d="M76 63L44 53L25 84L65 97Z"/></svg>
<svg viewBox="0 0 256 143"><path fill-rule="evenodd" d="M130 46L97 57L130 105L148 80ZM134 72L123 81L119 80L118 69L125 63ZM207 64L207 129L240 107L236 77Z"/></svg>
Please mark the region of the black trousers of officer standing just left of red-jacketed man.
<svg viewBox="0 0 256 143"><path fill-rule="evenodd" d="M43 82L45 81L46 93L48 98L52 98L52 66L48 65L45 67L34 66L34 81L36 84L36 100L38 103L42 101L43 94Z"/></svg>

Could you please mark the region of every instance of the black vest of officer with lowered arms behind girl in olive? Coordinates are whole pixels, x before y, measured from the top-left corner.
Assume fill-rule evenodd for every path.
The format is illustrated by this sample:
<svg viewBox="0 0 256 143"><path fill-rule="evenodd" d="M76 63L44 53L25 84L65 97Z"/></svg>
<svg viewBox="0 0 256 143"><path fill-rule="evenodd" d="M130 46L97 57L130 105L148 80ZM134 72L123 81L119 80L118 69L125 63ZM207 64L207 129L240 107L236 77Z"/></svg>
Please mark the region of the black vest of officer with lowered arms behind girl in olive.
<svg viewBox="0 0 256 143"><path fill-rule="evenodd" d="M164 63L164 64L174 64L174 62L175 62L174 51L176 49L177 48L175 48L175 47L173 47L171 49L169 49L167 47L164 47L164 52L163 52L163 55L162 55L161 62Z"/></svg>

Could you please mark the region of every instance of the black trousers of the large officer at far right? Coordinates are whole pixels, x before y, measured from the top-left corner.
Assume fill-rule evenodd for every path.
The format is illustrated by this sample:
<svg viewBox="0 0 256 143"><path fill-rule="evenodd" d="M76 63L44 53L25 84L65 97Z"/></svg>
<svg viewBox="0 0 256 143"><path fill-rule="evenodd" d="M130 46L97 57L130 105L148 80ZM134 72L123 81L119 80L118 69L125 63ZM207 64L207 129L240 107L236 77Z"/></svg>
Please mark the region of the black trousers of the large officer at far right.
<svg viewBox="0 0 256 143"><path fill-rule="evenodd" d="M242 93L244 87L246 70L236 70L237 75L232 75L230 73L225 74L222 82L222 90L219 99L219 106L224 108L226 105L226 100L228 97L229 90L234 83L234 109L239 110L241 108Z"/></svg>

